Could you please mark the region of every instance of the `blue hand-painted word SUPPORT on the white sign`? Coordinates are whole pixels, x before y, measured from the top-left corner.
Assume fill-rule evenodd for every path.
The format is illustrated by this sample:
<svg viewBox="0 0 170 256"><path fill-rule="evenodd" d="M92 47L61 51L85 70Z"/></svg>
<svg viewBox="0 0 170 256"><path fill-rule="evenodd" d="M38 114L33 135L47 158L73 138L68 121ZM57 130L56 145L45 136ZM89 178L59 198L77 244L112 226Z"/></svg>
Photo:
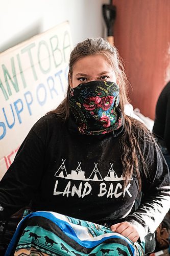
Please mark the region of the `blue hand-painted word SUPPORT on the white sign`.
<svg viewBox="0 0 170 256"><path fill-rule="evenodd" d="M55 73L54 76L48 76L46 83L39 83L34 92L25 92L22 97L20 95L19 99L10 103L7 109L0 110L0 140L7 136L8 129L14 129L17 120L19 124L22 123L22 116L28 115L24 114L26 111L30 116L34 114L34 110L37 112L34 104L38 103L41 107L47 104L49 100L56 100L59 92L64 92L63 80L65 80L67 71L68 67L64 71L60 70Z"/></svg>

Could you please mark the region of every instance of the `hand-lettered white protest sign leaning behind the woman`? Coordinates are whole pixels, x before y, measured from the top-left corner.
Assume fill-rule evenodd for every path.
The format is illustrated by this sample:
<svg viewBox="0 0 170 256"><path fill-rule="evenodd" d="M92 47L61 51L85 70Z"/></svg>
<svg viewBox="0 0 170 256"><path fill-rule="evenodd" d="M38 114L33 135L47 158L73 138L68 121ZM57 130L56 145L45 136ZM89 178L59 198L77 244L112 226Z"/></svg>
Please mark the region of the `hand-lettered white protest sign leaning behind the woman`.
<svg viewBox="0 0 170 256"><path fill-rule="evenodd" d="M63 100L71 50L65 22L0 54L0 180L33 124Z"/></svg>

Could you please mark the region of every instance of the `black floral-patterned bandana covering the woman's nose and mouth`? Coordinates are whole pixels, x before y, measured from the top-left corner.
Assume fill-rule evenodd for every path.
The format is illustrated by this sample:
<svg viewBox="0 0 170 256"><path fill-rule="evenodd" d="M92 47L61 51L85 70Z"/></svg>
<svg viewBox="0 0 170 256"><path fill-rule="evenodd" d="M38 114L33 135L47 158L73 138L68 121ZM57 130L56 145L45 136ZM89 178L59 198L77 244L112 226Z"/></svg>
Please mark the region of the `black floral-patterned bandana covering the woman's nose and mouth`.
<svg viewBox="0 0 170 256"><path fill-rule="evenodd" d="M70 110L82 134L98 135L117 130L123 123L117 108L119 87L114 82L91 81L71 88Z"/></svg>

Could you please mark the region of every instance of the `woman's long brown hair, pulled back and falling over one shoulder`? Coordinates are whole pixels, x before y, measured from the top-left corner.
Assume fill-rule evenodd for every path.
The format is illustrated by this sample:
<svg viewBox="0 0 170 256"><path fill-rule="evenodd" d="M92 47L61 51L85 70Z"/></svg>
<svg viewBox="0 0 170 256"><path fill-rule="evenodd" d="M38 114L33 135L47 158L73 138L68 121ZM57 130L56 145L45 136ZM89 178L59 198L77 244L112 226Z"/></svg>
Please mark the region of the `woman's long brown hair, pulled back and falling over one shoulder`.
<svg viewBox="0 0 170 256"><path fill-rule="evenodd" d="M142 140L152 140L152 136L147 127L136 119L130 118L124 113L125 104L129 103L127 96L127 89L129 82L125 75L124 63L119 56L117 49L111 46L104 38L88 38L82 42L79 42L77 46L72 50L69 60L69 75L72 77L72 69L76 61L88 55L103 55L106 60L112 66L115 72L117 84L119 86L119 108L123 112L124 116L124 133L119 140L119 148L122 163L123 163L123 177L124 187L129 183L132 174L135 174L139 183L139 189L141 189L141 170L147 176L148 169L145 163L144 154L142 151L143 146L140 145ZM57 113L63 120L66 120L69 116L69 95L70 87L68 82L68 89L65 99L57 107L57 109L48 113ZM139 127L139 128L138 128ZM140 139L141 138L141 139Z"/></svg>

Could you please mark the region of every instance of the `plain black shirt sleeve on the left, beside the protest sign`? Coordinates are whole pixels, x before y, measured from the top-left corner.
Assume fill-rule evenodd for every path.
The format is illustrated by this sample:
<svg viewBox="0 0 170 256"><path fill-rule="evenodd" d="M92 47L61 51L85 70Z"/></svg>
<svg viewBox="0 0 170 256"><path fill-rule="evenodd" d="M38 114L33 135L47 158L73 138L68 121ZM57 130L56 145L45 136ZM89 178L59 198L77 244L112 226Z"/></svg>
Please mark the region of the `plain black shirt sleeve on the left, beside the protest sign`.
<svg viewBox="0 0 170 256"><path fill-rule="evenodd" d="M45 143L32 128L0 182L0 220L30 203L41 182L44 159Z"/></svg>

